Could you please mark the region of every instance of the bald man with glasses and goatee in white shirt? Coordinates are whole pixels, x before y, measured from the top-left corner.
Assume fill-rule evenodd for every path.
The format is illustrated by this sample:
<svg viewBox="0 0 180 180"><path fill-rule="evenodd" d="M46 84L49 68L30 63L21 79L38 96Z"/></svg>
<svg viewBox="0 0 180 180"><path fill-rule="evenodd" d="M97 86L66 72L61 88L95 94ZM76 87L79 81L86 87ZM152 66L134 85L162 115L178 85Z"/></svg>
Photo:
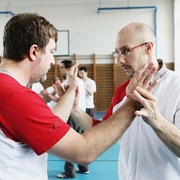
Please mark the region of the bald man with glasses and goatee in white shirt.
<svg viewBox="0 0 180 180"><path fill-rule="evenodd" d="M137 88L133 97L144 106L136 111L132 124L119 139L120 180L152 180L180 178L180 77L156 58L156 38L152 29L143 23L131 23L122 28L113 53L129 78L138 74L142 64L153 64L161 81L153 95ZM138 80L138 79L137 79ZM122 108L130 80L116 90L111 106L103 120ZM159 105L158 105L159 104ZM76 109L73 116L83 118ZM93 125L92 119L79 122L84 129ZM97 122L97 121L96 121ZM105 121L104 121L105 122Z"/></svg>

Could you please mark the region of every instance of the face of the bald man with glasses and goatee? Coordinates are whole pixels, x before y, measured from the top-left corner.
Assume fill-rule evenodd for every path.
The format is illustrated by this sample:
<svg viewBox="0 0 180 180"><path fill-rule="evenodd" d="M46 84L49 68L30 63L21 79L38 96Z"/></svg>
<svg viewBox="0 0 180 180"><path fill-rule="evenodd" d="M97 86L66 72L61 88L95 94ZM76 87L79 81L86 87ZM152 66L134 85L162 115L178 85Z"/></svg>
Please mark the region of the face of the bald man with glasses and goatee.
<svg viewBox="0 0 180 180"><path fill-rule="evenodd" d="M117 62L131 78L143 64L147 63L145 46L133 28L123 28L117 35L115 49L119 52ZM142 45L143 44L143 45Z"/></svg>

